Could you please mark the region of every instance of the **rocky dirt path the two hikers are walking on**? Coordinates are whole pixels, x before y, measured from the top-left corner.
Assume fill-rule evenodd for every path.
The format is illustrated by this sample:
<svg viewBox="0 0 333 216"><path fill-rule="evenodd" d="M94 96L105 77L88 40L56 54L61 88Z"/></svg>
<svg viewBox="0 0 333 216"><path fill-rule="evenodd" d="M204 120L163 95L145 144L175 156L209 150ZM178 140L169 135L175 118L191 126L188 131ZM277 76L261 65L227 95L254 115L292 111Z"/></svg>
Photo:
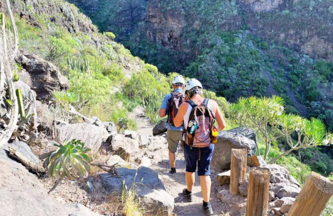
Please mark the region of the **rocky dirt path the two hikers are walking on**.
<svg viewBox="0 0 333 216"><path fill-rule="evenodd" d="M152 136L153 125L150 124L147 117L144 116L144 110L142 108L136 108L131 114L131 117L136 120L138 124L138 132L142 135ZM185 183L185 162L184 155L180 145L176 152L176 170L177 173L169 174L169 161L168 150L165 135L154 137L154 141L149 145L150 151L154 154L151 159L151 169L156 170L159 173L159 177L162 180L166 190L174 198L174 214L175 216L204 216L202 213L202 195L200 188L199 177L195 176L195 184L193 187L193 202L187 203L182 195L182 190L186 187ZM218 191L218 184L216 182L216 175L218 174L214 170L211 170L212 175L212 187L211 187L211 204L215 215L220 216L237 216L232 213L228 213L228 206L222 204L220 200L216 198Z"/></svg>

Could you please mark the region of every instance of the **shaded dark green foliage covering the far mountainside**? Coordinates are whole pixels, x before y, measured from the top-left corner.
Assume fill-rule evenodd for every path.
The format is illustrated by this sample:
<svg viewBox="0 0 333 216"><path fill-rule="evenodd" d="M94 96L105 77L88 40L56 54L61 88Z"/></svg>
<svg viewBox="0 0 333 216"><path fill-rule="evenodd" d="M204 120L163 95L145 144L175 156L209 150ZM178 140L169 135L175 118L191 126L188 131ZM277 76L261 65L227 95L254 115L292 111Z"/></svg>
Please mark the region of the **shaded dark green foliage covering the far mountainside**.
<svg viewBox="0 0 333 216"><path fill-rule="evenodd" d="M195 76L206 88L230 101L240 96L279 95L286 101L287 112L318 117L333 130L332 63L285 48L284 41L278 40L286 30L296 29L295 34L302 34L301 30L308 28L316 33L323 29L318 34L329 37L325 29L332 27L331 0L286 1L279 9L257 13L248 12L245 3L235 0L150 1L154 8L152 20L172 18L183 26L175 38L172 34L176 33L167 34L166 23L154 25L146 21L146 0L91 3L98 9L90 9L86 0L72 1L100 29L114 31L117 40L134 55L162 72ZM249 34L247 23L258 28L257 35L270 32L271 37L266 37L269 40ZM267 26L271 31L265 31ZM148 36L147 32L151 34ZM162 36L157 36L158 33ZM161 42L165 40L161 38L163 33L169 35L170 41ZM174 45L177 43L179 46Z"/></svg>

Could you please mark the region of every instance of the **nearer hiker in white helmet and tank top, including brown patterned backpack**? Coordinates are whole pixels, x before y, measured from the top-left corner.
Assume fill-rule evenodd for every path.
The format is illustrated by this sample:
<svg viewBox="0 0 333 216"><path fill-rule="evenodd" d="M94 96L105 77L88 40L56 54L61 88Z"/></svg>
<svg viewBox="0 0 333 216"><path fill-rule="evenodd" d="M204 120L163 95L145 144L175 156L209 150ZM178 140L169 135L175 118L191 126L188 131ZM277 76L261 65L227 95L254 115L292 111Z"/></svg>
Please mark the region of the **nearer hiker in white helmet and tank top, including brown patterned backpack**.
<svg viewBox="0 0 333 216"><path fill-rule="evenodd" d="M179 107L174 118L175 127L183 125L183 149L186 163L186 188L182 194L188 202L192 202L192 187L195 181L195 170L200 177L203 197L203 211L213 215L209 203L210 197L210 163L214 152L217 134L225 128L222 112L214 100L202 97L203 89L199 80L189 79L185 83L185 102ZM188 100L187 100L188 98ZM217 122L215 127L214 122Z"/></svg>

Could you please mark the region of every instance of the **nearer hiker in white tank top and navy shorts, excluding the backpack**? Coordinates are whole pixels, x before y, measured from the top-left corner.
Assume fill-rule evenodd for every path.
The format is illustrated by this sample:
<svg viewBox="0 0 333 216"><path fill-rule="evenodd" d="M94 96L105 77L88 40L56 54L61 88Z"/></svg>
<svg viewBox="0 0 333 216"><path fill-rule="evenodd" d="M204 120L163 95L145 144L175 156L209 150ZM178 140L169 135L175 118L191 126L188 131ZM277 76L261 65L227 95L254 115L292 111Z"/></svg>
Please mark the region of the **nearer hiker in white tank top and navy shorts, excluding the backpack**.
<svg viewBox="0 0 333 216"><path fill-rule="evenodd" d="M205 98L202 97L203 89L201 83L197 79L189 79L185 83L185 100L191 100L196 105L202 105ZM207 107L215 115L215 120L217 122L217 131L222 131L225 126L225 120L223 119L222 112L214 100L209 100ZM184 124L184 128L187 128L189 115L191 113L192 107L189 103L182 103L179 107L178 114L174 119L174 125L176 127ZM184 137L183 137L184 141ZM200 178L200 186L203 197L203 211L206 215L213 215L212 207L209 203L210 198L210 163L212 160L214 152L214 144L210 144L207 147L192 147L188 144L184 144L184 157L186 163L186 188L183 190L182 194L187 198L189 202L192 201L192 187L195 181L195 170L197 169L198 176Z"/></svg>

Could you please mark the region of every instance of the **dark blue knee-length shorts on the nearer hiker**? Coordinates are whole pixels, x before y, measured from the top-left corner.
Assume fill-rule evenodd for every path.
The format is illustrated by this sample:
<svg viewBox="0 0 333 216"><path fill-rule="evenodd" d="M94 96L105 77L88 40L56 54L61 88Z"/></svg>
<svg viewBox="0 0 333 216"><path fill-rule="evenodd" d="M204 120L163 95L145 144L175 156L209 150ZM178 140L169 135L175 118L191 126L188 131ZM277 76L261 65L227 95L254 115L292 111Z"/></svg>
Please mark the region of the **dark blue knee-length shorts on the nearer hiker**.
<svg viewBox="0 0 333 216"><path fill-rule="evenodd" d="M199 148L184 144L186 172L195 172L198 163L198 176L210 175L210 162L212 161L213 152L214 144L200 148L199 160Z"/></svg>

